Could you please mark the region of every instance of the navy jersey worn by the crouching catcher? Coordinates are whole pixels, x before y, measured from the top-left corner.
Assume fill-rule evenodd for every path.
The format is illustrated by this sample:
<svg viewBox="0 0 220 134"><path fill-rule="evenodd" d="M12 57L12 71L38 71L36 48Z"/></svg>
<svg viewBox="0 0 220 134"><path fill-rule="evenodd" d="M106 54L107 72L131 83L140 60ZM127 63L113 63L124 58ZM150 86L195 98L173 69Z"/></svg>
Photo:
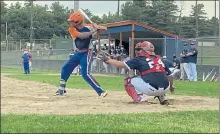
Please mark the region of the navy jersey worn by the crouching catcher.
<svg viewBox="0 0 220 134"><path fill-rule="evenodd" d="M144 72L154 67L154 61L146 57L135 57L124 63L128 69L135 69L139 72ZM165 69L168 75L171 73L170 70L161 61L161 59L158 60L158 63ZM141 75L141 78L146 83L149 83L156 89L158 89L159 87L167 88L169 85L169 81L166 72L156 72L155 70L155 72L150 72L145 75Z"/></svg>

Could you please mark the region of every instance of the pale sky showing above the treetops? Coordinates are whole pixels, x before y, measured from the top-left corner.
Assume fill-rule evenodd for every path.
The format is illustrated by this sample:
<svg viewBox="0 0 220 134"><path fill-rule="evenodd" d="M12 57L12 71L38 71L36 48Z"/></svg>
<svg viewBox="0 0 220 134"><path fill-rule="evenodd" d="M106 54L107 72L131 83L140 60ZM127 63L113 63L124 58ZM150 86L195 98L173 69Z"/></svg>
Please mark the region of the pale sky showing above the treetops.
<svg viewBox="0 0 220 134"><path fill-rule="evenodd" d="M5 1L7 4L10 3L16 3L17 1ZM19 1L23 3L24 1ZM35 1L34 3L45 5L50 5L54 1ZM123 4L125 1L120 1L120 4ZM73 8L74 1L60 1L62 5L65 7ZM117 1L80 1L79 6L83 9L89 9L93 14L101 16L102 14L106 14L109 11L110 12L116 12L117 11ZM211 18L214 16L214 1L198 1L198 3L204 4L204 9L207 13L207 17ZM183 15L188 16L191 11L191 5L195 5L195 1L176 1L176 4L178 7L183 6L184 11ZM217 18L219 18L219 2L217 1Z"/></svg>

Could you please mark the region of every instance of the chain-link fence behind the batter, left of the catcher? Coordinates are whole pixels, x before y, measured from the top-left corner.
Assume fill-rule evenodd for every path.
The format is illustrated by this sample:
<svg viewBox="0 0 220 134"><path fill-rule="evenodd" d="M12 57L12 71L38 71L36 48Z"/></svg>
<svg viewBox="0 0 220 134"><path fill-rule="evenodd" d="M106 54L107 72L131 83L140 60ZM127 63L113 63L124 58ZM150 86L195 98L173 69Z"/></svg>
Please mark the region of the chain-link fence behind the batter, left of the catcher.
<svg viewBox="0 0 220 134"><path fill-rule="evenodd" d="M21 68L23 49L30 47L29 40L10 40L8 45L1 42L1 65L2 67ZM73 48L72 40L34 40L32 50L32 69L57 71L60 72L62 65L69 59L71 49ZM117 60L125 59L128 56L118 56ZM93 73L106 74L125 74L125 69L113 67L109 64L93 58Z"/></svg>

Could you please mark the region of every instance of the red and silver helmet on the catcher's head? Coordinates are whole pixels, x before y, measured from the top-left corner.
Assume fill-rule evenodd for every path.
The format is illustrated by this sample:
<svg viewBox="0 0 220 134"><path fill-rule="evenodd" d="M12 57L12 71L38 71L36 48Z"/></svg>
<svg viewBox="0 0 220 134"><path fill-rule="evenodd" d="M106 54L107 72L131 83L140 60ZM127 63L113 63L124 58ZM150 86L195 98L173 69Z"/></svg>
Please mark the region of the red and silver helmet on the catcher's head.
<svg viewBox="0 0 220 134"><path fill-rule="evenodd" d="M155 55L154 45L149 41L139 42L135 45L136 56Z"/></svg>

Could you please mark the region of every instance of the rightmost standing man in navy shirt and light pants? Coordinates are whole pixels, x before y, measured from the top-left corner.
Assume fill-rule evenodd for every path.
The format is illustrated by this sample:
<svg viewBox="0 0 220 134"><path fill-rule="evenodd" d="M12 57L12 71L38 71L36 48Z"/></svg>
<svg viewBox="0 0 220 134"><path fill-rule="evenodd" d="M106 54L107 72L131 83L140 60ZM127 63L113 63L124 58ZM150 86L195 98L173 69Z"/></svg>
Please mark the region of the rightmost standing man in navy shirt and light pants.
<svg viewBox="0 0 220 134"><path fill-rule="evenodd" d="M194 43L190 44L191 49L189 50L188 61L189 61L189 70L190 70L190 81L197 81L197 70L196 70L196 63L197 63L197 55L198 50L196 49L196 46Z"/></svg>

